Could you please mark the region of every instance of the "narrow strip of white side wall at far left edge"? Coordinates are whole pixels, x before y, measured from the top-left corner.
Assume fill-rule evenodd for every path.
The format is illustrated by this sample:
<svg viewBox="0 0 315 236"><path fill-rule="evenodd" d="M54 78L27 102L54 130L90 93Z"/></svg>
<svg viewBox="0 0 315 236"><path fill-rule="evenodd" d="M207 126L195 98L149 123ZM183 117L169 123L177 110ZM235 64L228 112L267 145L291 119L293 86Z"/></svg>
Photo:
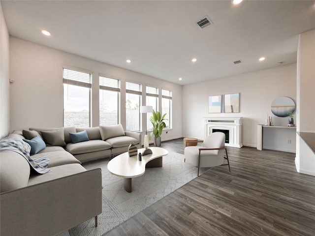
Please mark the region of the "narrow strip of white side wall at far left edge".
<svg viewBox="0 0 315 236"><path fill-rule="evenodd" d="M9 33L0 3L0 138L10 131Z"/></svg>

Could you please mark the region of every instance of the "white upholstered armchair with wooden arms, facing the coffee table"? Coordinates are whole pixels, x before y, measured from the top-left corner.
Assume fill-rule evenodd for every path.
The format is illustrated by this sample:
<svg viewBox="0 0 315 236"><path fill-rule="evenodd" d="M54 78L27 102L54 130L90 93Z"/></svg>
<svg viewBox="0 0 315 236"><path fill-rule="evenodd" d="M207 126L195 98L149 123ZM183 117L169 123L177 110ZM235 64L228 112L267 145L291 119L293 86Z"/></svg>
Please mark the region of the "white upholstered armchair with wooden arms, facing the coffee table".
<svg viewBox="0 0 315 236"><path fill-rule="evenodd" d="M214 167L214 166L225 166L228 165L229 171L230 163L228 161L227 150L225 144L225 134L222 132L215 132L208 135L204 141L192 141L202 142L200 146L188 147L189 141L186 143L184 150L184 162L188 162L198 167L198 176L200 167ZM226 157L224 157L224 149ZM223 160L227 160L227 164L223 164Z"/></svg>

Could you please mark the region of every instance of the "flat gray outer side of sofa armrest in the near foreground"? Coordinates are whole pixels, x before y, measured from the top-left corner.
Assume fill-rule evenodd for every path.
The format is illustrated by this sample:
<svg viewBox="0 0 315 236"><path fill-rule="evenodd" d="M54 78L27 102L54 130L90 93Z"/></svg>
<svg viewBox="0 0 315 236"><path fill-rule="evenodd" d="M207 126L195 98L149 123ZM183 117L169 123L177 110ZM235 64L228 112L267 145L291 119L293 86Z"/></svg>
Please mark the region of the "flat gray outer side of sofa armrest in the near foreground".
<svg viewBox="0 0 315 236"><path fill-rule="evenodd" d="M0 235L59 235L102 212L101 170L1 193Z"/></svg>

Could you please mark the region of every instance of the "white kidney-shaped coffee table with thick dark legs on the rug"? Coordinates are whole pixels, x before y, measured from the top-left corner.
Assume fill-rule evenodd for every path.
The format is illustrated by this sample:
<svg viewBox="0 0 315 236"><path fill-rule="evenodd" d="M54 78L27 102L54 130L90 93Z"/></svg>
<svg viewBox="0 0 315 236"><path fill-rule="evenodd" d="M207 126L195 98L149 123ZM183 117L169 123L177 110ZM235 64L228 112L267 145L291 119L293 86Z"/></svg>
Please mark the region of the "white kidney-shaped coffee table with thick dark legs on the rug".
<svg viewBox="0 0 315 236"><path fill-rule="evenodd" d="M108 162L108 171L114 176L124 178L124 188L128 193L132 190L132 178L142 176L146 168L162 167L162 156L167 155L168 151L158 147L150 149L152 153L142 156L142 161L139 161L138 155L129 157L128 152L124 152ZM138 153L144 150L145 148L140 148Z"/></svg>

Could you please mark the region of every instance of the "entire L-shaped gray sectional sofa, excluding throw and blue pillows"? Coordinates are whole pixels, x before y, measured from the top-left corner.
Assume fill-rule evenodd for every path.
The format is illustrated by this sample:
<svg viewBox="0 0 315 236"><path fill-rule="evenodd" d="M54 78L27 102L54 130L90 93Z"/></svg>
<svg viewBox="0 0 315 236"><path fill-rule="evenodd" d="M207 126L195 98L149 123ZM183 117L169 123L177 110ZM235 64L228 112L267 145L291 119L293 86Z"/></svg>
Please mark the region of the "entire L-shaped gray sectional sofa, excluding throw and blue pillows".
<svg viewBox="0 0 315 236"><path fill-rule="evenodd" d="M82 131L89 140L73 143L69 133ZM35 136L46 147L30 157L49 156L46 174L32 170L18 152L0 150L0 235L54 236L93 217L97 224L102 212L101 170L87 171L81 162L125 152L130 142L140 148L141 134L114 125L30 128L8 138L30 141Z"/></svg>

